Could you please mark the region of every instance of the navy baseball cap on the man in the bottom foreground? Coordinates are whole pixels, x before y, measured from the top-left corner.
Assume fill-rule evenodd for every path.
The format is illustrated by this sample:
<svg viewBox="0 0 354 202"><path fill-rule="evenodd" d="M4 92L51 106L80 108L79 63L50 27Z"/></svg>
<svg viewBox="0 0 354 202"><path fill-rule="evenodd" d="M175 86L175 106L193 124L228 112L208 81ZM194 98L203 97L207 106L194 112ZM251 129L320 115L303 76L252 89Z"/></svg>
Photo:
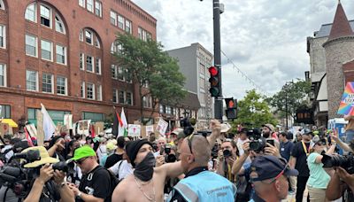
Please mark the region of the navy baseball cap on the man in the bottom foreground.
<svg viewBox="0 0 354 202"><path fill-rule="evenodd" d="M251 181L264 181L267 179L277 178L281 175L296 176L298 171L290 169L286 159L277 158L275 156L258 156L250 164Z"/></svg>

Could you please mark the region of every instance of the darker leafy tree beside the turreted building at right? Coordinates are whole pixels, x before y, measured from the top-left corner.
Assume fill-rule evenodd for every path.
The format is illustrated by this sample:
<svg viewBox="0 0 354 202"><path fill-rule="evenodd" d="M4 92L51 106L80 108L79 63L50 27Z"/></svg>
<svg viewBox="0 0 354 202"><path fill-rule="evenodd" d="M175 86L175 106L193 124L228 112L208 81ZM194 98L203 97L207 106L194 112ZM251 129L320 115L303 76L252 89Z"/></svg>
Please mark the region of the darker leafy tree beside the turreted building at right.
<svg viewBox="0 0 354 202"><path fill-rule="evenodd" d="M311 91L311 83L297 79L283 85L281 91L266 100L272 105L281 118L286 118L286 113L295 120L296 110L307 105L307 98ZM288 108L288 110L287 110Z"/></svg>

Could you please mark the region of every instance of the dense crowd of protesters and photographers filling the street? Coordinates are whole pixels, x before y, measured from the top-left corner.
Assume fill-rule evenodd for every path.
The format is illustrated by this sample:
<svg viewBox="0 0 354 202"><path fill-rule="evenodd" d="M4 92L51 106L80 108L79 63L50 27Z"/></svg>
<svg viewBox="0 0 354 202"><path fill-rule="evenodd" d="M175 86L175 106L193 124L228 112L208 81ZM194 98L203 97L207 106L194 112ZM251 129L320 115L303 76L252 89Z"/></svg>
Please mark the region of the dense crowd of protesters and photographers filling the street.
<svg viewBox="0 0 354 202"><path fill-rule="evenodd" d="M167 138L1 141L0 201L354 201L353 144L335 130L294 136L211 120L210 133L176 128Z"/></svg>

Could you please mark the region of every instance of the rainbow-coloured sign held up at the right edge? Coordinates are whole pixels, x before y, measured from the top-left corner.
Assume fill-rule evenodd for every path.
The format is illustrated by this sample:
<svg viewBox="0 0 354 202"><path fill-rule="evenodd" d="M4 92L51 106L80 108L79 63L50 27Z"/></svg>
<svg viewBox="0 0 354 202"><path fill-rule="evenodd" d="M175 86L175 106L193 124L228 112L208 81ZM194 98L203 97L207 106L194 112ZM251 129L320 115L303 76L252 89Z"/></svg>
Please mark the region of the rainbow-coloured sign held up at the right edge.
<svg viewBox="0 0 354 202"><path fill-rule="evenodd" d="M354 115L354 82L347 82L337 113Z"/></svg>

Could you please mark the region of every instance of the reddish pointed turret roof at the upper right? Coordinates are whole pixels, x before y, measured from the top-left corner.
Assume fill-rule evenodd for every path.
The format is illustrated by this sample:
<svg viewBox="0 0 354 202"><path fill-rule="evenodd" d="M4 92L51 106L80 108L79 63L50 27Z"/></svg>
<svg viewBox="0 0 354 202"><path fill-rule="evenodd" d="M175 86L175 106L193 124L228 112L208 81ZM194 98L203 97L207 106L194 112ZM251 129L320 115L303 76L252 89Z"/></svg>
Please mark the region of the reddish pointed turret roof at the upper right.
<svg viewBox="0 0 354 202"><path fill-rule="evenodd" d="M328 41L348 35L354 35L354 33L342 8L341 1L338 1L337 11L335 12L335 19L333 20L331 33L328 36Z"/></svg>

